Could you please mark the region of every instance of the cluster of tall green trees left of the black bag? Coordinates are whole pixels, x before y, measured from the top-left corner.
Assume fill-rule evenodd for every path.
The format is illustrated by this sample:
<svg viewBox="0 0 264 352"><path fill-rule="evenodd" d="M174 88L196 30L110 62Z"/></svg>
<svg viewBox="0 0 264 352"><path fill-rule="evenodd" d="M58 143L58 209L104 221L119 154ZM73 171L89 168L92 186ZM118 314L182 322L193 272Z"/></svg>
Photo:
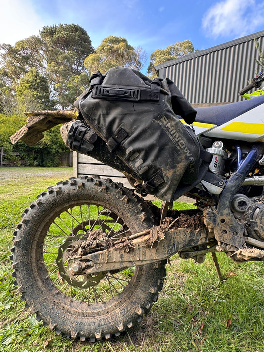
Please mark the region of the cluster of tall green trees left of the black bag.
<svg viewBox="0 0 264 352"><path fill-rule="evenodd" d="M14 46L1 44L0 50L0 105L6 113L13 112L11 106L19 113L19 107L26 105L26 101L35 101L34 105L42 109L48 105L70 108L77 97L73 92L80 92L88 85L84 59L93 52L93 47L87 32L79 25L43 27L40 36L31 36ZM37 87L38 92L34 93Z"/></svg>

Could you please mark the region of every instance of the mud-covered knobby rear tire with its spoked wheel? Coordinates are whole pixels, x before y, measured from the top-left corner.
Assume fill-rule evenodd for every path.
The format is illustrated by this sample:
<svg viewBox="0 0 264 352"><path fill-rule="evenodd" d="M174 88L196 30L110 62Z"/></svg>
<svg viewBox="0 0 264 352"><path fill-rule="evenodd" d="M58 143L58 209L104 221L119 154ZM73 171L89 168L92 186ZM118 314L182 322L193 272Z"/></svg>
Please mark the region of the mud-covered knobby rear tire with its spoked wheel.
<svg viewBox="0 0 264 352"><path fill-rule="evenodd" d="M61 277L56 259L69 236L97 228L115 240L153 223L144 202L109 179L71 178L49 187L24 211L14 232L13 275L26 306L57 334L82 341L131 328L158 299L165 262L95 275L93 286L82 289ZM78 239L69 251L75 244Z"/></svg>

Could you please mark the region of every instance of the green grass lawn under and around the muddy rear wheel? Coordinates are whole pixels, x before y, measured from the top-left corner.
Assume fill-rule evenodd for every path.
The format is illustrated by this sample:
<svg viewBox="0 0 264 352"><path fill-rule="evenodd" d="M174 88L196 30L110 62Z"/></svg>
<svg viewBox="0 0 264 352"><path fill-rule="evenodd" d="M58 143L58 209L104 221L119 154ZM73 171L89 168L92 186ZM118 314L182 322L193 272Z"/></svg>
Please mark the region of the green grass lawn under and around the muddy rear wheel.
<svg viewBox="0 0 264 352"><path fill-rule="evenodd" d="M118 339L66 340L37 322L13 283L12 233L37 194L71 175L69 168L0 168L0 352L264 352L264 263L236 264L223 254L222 283L209 254L203 264L171 258L158 302Z"/></svg>

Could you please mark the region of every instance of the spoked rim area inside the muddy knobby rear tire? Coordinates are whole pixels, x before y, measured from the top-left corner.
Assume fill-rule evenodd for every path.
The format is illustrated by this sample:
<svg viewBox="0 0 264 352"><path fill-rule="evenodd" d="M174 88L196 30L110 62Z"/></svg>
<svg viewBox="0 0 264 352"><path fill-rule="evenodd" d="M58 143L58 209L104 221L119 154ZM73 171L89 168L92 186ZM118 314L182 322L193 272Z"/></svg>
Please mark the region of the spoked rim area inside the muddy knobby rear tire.
<svg viewBox="0 0 264 352"><path fill-rule="evenodd" d="M70 268L63 261L63 270L58 269L58 257L70 253L83 241L91 231L101 230L113 241L128 237L131 231L122 217L100 202L81 202L63 208L46 224L42 232L42 255L47 272L46 279L52 281L57 291L73 301L85 302L88 305L109 302L132 285L133 276L138 268L132 267L120 272L105 272L91 276L79 275L70 277ZM69 243L63 253L61 246ZM61 260L62 261L62 260ZM68 275L68 278L66 277ZM89 283L87 285L87 283Z"/></svg>

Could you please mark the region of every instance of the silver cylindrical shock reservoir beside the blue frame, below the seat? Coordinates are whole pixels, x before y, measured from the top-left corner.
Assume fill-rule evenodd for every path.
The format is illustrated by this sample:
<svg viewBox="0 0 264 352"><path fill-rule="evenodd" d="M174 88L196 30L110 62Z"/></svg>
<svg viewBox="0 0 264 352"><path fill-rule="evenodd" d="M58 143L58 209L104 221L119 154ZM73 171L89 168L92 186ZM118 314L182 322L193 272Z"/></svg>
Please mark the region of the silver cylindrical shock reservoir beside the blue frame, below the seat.
<svg viewBox="0 0 264 352"><path fill-rule="evenodd" d="M224 151L224 144L222 141L215 141L212 148L207 148L206 151L213 154L209 169L218 176L224 175L225 161L227 160L227 152Z"/></svg>

